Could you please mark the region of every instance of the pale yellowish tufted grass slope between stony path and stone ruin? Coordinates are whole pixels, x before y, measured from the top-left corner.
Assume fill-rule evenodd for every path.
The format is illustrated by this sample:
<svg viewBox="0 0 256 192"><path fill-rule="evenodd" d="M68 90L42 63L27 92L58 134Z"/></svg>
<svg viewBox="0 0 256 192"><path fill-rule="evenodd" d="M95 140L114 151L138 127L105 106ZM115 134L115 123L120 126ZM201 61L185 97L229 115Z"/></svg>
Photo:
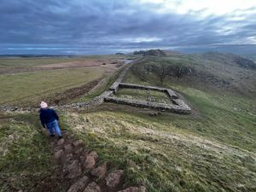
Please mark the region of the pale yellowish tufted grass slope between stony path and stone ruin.
<svg viewBox="0 0 256 192"><path fill-rule="evenodd" d="M166 192L256 189L254 152L186 131L167 117L149 119L122 110L67 113L66 119L88 146L125 170L125 183Z"/></svg>

